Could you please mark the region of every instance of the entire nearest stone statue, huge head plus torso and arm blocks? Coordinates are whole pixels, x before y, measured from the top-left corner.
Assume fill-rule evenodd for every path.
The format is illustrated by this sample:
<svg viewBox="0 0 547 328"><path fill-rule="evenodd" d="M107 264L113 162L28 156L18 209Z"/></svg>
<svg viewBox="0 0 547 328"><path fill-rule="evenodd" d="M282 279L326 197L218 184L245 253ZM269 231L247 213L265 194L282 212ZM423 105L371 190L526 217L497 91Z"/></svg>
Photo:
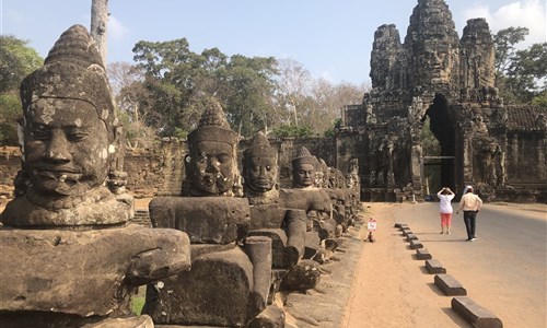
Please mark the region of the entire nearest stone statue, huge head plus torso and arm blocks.
<svg viewBox="0 0 547 328"><path fill-rule="evenodd" d="M126 224L119 126L103 62L81 25L21 84L23 167L1 214L5 327L153 327L139 285L189 269L188 236ZM114 178L115 194L107 188Z"/></svg>

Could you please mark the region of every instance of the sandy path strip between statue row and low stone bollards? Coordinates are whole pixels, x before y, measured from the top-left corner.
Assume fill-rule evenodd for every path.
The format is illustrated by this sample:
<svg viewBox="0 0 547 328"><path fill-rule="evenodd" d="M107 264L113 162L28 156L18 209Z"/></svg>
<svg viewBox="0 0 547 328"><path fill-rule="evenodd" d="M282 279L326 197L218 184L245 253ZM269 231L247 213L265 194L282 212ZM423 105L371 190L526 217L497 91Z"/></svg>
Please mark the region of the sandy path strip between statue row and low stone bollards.
<svg viewBox="0 0 547 328"><path fill-rule="evenodd" d="M389 203L373 203L369 216L377 220L375 243L365 243L357 268L354 294L341 327L468 327L451 311L451 297L441 295L433 276L412 259ZM361 234L366 235L363 229Z"/></svg>

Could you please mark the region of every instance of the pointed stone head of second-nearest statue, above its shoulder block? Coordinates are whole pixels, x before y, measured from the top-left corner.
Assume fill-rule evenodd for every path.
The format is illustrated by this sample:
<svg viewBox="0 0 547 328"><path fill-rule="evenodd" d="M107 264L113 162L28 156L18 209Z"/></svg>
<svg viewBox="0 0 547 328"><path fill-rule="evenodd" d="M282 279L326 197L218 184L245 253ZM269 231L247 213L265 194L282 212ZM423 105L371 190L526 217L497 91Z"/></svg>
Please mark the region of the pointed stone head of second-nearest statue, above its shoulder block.
<svg viewBox="0 0 547 328"><path fill-rule="evenodd" d="M187 179L194 196L232 196L237 174L238 136L217 101L209 101L198 127L188 134Z"/></svg>

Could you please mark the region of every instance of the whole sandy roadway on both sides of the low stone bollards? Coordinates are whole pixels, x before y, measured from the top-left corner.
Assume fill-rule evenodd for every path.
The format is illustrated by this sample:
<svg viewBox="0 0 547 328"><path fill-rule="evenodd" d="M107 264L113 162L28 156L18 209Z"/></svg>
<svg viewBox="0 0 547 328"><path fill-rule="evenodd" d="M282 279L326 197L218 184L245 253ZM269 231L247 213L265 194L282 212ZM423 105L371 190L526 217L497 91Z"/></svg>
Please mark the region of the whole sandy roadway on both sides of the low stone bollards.
<svg viewBox="0 0 547 328"><path fill-rule="evenodd" d="M508 220L498 218L497 213L503 212L539 223L535 225L538 231L521 230L517 238L502 221L498 221L496 232L487 221L480 221L479 241L465 243L462 214L453 218L452 235L439 234L438 206L370 204L368 216L377 221L376 243L363 245L353 295L340 327L470 327L452 311L452 297L434 285L434 274L427 272L424 261L416 259L416 251L394 229L396 222L407 223L433 258L462 282L468 296L501 318L504 327L547 327L547 207L485 204L480 220L487 215ZM363 238L365 234L363 229Z"/></svg>

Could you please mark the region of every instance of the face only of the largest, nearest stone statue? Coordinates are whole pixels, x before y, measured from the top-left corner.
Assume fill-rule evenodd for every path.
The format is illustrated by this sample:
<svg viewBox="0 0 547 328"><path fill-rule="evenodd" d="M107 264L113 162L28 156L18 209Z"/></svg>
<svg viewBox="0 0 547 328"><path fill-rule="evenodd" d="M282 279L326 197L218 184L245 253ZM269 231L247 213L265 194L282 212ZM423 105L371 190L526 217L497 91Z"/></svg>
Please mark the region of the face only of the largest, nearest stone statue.
<svg viewBox="0 0 547 328"><path fill-rule="evenodd" d="M39 98L25 110L24 155L38 194L82 196L108 174L106 125L93 105Z"/></svg>

